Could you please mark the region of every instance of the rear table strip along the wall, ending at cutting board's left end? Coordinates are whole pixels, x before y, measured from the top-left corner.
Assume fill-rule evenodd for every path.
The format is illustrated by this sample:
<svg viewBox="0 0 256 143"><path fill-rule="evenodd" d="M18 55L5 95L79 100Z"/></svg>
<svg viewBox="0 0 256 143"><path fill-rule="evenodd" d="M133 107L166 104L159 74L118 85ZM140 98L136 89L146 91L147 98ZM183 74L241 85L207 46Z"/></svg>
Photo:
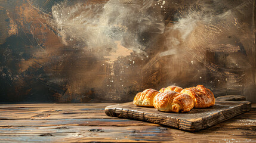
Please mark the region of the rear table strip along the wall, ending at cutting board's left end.
<svg viewBox="0 0 256 143"><path fill-rule="evenodd" d="M0 120L112 119L113 117L104 114L106 105L110 104L2 104L0 105Z"/></svg>

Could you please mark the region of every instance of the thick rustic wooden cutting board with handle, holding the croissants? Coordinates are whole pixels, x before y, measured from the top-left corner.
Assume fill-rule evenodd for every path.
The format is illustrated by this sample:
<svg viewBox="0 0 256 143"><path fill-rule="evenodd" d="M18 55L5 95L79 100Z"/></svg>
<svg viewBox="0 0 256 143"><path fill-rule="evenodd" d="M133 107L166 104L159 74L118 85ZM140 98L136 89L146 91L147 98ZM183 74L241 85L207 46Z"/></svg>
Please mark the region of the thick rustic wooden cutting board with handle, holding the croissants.
<svg viewBox="0 0 256 143"><path fill-rule="evenodd" d="M165 113L153 107L139 107L127 102L107 106L105 113L107 116L142 120L195 132L249 111L251 102L240 100L245 100L245 97L228 95L216 98L213 107L193 108L188 113Z"/></svg>

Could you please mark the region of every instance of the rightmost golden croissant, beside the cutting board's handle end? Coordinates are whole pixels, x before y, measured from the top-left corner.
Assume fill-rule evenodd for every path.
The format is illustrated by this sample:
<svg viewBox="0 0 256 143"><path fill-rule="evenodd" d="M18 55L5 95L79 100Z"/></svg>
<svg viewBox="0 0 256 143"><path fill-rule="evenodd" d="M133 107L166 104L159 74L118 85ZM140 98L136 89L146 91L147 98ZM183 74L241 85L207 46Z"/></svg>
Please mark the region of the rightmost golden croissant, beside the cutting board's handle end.
<svg viewBox="0 0 256 143"><path fill-rule="evenodd" d="M203 85L198 85L193 88L185 88L181 93L188 94L193 98L195 108L206 108L215 104L214 94Z"/></svg>

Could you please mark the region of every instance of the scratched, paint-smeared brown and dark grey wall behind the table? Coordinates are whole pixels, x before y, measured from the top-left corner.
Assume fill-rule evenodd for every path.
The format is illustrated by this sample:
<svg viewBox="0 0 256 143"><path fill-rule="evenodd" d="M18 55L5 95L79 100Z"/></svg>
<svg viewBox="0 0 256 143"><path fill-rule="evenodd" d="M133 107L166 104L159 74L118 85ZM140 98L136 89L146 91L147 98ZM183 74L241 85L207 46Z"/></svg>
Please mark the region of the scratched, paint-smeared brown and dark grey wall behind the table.
<svg viewBox="0 0 256 143"><path fill-rule="evenodd" d="M203 84L254 100L254 1L0 2L0 102L127 102Z"/></svg>

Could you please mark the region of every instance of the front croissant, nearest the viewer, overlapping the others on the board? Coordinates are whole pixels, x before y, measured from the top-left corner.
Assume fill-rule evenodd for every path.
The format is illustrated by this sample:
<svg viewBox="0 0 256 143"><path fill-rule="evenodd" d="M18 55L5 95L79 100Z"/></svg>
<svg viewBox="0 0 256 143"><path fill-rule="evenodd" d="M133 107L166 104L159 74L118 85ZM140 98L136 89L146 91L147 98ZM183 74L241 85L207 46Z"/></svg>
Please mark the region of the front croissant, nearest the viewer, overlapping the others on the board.
<svg viewBox="0 0 256 143"><path fill-rule="evenodd" d="M154 107L165 112L187 112L194 107L193 98L175 91L161 92L154 98Z"/></svg>

